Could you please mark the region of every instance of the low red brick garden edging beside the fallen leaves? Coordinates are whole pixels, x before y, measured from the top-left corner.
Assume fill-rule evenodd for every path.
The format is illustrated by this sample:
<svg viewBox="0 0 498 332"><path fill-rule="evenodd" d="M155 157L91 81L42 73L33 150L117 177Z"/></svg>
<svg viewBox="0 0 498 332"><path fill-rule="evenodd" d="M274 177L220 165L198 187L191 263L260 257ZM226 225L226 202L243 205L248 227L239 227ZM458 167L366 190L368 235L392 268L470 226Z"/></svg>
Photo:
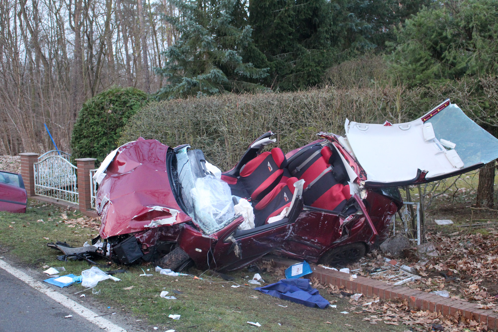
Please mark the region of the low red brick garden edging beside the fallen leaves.
<svg viewBox="0 0 498 332"><path fill-rule="evenodd" d="M299 263L296 260L272 257L279 267L288 267ZM334 271L310 264L313 273L306 278L316 278L322 285L342 287L353 293L363 293L367 297L379 297L382 300L407 300L412 309L440 312L443 316L453 316L460 312L466 319L483 322L490 330L498 330L498 314L492 310L479 309L477 304L445 298L436 294L411 289L406 286L388 285L386 282L358 276L350 280L350 274Z"/></svg>

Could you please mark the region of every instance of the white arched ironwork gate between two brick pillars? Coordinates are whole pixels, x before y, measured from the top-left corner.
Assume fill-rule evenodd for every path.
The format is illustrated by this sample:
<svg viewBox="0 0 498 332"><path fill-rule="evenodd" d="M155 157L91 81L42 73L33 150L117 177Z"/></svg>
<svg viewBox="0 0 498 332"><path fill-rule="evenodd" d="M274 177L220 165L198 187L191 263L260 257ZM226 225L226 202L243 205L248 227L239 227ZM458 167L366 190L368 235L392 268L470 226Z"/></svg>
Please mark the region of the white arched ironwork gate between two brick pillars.
<svg viewBox="0 0 498 332"><path fill-rule="evenodd" d="M69 162L69 156L67 153L53 150L44 153L38 158L39 161L33 164L37 195L78 203L78 168Z"/></svg>

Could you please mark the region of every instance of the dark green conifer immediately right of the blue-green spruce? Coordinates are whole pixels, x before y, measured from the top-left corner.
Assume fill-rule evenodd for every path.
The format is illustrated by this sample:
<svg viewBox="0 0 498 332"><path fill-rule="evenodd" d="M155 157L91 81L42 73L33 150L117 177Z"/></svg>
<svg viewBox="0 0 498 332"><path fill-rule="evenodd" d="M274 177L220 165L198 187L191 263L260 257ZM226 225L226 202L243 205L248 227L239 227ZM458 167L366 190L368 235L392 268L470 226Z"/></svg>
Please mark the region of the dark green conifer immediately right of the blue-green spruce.
<svg viewBox="0 0 498 332"><path fill-rule="evenodd" d="M371 26L348 0L253 0L249 23L257 48L271 61L271 84L295 90L322 82L325 69L371 49Z"/></svg>

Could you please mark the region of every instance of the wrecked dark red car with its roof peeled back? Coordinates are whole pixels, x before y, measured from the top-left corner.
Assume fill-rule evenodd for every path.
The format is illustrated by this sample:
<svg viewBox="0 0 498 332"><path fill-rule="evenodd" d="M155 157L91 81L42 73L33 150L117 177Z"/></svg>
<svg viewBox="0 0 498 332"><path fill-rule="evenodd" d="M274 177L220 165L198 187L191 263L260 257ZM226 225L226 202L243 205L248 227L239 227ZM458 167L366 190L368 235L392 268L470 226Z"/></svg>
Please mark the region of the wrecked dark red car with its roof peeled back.
<svg viewBox="0 0 498 332"><path fill-rule="evenodd" d="M257 138L229 171L189 145L139 138L95 174L99 238L114 261L231 271L266 253L343 265L386 239L397 186L477 169L498 140L446 100L406 123L346 121L345 136L284 153Z"/></svg>

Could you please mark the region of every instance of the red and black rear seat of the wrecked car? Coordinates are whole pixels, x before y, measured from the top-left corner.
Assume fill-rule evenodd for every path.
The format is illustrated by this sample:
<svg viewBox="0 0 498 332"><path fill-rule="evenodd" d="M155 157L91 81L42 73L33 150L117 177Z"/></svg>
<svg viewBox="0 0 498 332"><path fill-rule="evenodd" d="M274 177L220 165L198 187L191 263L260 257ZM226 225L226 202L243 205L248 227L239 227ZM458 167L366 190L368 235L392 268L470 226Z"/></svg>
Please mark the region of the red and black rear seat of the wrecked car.
<svg viewBox="0 0 498 332"><path fill-rule="evenodd" d="M336 149L313 145L289 163L289 171L304 179L307 206L341 211L351 197L347 172Z"/></svg>

